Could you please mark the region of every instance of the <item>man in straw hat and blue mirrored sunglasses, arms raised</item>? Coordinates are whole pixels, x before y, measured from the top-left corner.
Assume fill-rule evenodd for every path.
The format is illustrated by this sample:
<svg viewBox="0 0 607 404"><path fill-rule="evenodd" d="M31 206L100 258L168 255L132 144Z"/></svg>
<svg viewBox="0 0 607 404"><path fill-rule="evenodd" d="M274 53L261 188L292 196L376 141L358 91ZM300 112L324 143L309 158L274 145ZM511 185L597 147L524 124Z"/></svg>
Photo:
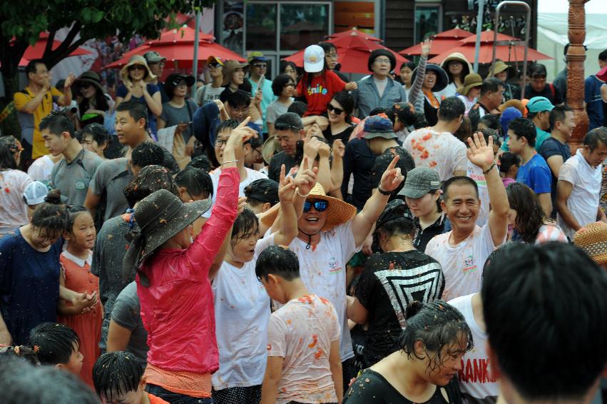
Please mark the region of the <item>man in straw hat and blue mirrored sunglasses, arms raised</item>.
<svg viewBox="0 0 607 404"><path fill-rule="evenodd" d="M398 156L394 157L382 175L377 187L379 192L373 193L358 214L349 203L327 196L320 183L309 194L299 194L303 213L297 221L297 238L289 248L300 258L301 277L307 289L329 299L337 310L342 325L340 351L346 389L347 383L355 377L352 339L346 315L346 263L360 250L389 196L404 180L400 168L395 168L398 160ZM307 161L306 156L300 171L305 171ZM277 213L277 208L270 209L261 222L271 226Z"/></svg>

